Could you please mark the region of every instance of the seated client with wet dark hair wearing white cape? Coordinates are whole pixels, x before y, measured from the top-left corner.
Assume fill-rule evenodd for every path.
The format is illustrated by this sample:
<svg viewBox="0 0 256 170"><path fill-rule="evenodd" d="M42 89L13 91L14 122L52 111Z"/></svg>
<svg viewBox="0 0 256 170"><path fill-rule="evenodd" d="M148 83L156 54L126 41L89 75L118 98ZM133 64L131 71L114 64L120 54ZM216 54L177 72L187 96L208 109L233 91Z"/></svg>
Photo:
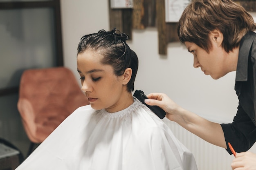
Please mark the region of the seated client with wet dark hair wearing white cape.
<svg viewBox="0 0 256 170"><path fill-rule="evenodd" d="M74 111L17 170L197 170L195 159L132 96L138 58L116 29L84 35L77 71L90 105Z"/></svg>

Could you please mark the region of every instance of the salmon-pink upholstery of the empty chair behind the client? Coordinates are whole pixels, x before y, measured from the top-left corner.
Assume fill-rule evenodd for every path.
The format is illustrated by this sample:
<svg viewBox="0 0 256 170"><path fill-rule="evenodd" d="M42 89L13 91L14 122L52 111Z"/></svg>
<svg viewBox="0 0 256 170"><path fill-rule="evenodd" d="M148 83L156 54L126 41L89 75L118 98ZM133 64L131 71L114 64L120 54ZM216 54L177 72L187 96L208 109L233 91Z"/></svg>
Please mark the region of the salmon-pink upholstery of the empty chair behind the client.
<svg viewBox="0 0 256 170"><path fill-rule="evenodd" d="M42 143L76 108L88 104L68 68L29 69L22 73L18 111L33 143Z"/></svg>

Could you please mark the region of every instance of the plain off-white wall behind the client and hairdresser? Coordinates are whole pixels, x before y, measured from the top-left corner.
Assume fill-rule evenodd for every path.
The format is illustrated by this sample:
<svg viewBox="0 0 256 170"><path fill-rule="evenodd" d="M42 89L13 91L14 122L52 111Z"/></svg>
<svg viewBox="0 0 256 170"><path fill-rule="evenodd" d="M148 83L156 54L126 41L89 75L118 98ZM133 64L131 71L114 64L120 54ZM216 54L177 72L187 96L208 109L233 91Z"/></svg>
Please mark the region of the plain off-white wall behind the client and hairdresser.
<svg viewBox="0 0 256 170"><path fill-rule="evenodd" d="M64 64L79 79L76 73L77 44L84 34L109 30L108 1L61 0L61 14ZM252 15L256 17L255 13ZM168 44L168 54L159 55L156 28L134 30L128 44L139 57L135 89L146 94L166 93L179 105L211 121L229 123L233 120L238 106L234 90L235 72L213 80L200 68L193 68L193 55L180 42ZM229 157L226 152L223 154ZM200 158L196 158L198 163L204 161Z"/></svg>

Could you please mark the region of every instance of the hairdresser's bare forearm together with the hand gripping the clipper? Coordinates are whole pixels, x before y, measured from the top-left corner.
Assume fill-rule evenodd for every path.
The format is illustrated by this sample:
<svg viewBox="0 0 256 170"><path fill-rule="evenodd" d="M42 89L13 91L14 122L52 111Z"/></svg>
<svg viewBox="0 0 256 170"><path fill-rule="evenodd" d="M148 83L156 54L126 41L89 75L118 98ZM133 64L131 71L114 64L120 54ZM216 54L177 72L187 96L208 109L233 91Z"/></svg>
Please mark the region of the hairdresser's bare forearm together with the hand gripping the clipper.
<svg viewBox="0 0 256 170"><path fill-rule="evenodd" d="M175 121L186 130L189 130L213 145L227 148L220 124L208 121L189 110L185 110L173 102L166 94L150 93L147 97L149 99L146 99L145 103L151 106L156 105L164 109L166 117L171 121Z"/></svg>

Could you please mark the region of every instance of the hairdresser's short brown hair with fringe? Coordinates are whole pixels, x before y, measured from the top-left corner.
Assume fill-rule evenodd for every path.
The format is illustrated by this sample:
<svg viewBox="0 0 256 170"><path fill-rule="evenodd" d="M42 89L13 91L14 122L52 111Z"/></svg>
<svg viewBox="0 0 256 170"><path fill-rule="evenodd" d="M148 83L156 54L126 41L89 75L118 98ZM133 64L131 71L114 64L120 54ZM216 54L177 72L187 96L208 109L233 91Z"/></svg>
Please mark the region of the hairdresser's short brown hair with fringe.
<svg viewBox="0 0 256 170"><path fill-rule="evenodd" d="M252 15L232 0L192 0L177 31L181 42L193 42L209 53L209 33L214 29L223 34L222 47L228 53L239 46L247 31L256 29L256 24Z"/></svg>

